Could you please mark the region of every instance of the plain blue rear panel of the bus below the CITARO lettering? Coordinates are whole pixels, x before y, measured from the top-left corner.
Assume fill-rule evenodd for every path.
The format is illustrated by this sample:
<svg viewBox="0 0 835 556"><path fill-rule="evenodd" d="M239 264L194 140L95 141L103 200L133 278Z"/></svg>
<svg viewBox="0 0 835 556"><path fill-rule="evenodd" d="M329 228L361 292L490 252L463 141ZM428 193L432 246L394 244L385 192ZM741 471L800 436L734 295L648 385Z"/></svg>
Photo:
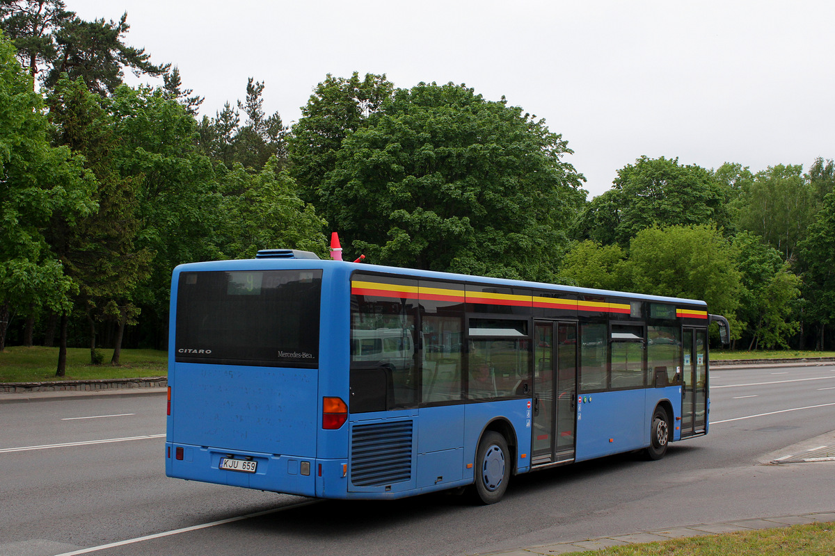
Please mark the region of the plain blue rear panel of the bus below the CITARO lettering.
<svg viewBox="0 0 835 556"><path fill-rule="evenodd" d="M170 477L315 495L315 369L175 363L166 458ZM183 459L175 458L177 448ZM220 469L251 458L256 473Z"/></svg>

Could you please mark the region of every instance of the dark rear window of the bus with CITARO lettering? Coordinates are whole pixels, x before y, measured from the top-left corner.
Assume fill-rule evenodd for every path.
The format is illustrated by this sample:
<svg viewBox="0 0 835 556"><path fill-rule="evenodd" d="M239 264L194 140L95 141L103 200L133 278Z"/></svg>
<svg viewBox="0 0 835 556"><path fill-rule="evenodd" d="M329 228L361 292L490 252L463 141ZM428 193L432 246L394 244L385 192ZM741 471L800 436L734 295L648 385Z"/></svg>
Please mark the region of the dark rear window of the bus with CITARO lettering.
<svg viewBox="0 0 835 556"><path fill-rule="evenodd" d="M321 270L181 273L175 361L315 368Z"/></svg>

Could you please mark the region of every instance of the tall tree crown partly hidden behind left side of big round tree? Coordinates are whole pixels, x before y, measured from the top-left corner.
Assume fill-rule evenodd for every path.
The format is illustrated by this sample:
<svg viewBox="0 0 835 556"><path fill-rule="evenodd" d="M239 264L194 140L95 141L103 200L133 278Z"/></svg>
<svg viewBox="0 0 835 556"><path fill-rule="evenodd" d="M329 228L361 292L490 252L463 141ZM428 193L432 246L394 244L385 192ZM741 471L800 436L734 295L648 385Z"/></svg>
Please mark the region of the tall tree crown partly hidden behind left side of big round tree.
<svg viewBox="0 0 835 556"><path fill-rule="evenodd" d="M319 201L317 190L326 173L336 167L342 141L379 112L393 91L385 74L366 73L360 79L357 72L351 78L334 78L328 73L316 86L301 108L288 145L291 175L306 201Z"/></svg>

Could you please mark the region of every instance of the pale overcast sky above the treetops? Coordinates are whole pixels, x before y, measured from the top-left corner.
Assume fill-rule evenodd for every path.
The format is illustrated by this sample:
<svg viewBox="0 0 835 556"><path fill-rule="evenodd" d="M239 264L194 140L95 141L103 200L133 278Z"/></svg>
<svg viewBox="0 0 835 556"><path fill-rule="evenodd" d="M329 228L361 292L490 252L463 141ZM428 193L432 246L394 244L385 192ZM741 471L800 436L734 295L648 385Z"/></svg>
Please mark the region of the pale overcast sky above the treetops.
<svg viewBox="0 0 835 556"><path fill-rule="evenodd" d="M209 116L249 77L285 123L327 73L504 95L569 141L590 197L641 155L754 172L835 158L831 0L65 2L85 19L126 11L126 42L178 66Z"/></svg>

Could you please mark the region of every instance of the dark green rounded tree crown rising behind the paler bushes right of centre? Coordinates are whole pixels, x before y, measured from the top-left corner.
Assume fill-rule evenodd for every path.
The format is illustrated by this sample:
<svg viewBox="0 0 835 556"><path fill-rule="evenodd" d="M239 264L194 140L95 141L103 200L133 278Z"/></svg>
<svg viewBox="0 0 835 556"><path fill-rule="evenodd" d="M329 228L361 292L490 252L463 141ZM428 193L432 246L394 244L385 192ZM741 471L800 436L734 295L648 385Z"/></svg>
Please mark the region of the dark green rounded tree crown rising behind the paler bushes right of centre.
<svg viewBox="0 0 835 556"><path fill-rule="evenodd" d="M681 165L678 158L644 156L618 170L614 187L585 208L575 235L625 247L640 230L653 226L726 228L728 195L705 168Z"/></svg>

